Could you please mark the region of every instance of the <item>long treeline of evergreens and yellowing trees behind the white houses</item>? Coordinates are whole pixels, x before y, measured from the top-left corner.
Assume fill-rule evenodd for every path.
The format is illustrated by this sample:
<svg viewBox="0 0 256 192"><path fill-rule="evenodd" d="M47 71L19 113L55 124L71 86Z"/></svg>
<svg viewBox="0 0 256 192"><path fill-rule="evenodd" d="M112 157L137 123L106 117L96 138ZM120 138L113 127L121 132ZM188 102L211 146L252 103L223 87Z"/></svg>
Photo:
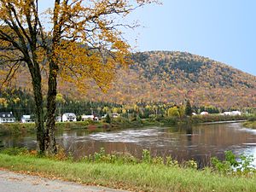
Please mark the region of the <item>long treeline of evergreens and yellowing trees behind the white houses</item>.
<svg viewBox="0 0 256 192"><path fill-rule="evenodd" d="M90 102L73 100L68 96L57 94L56 97L57 110L56 116L62 113L75 113L78 119L83 114L96 114L102 116L106 113L120 113L126 118L141 118L146 119L151 116L177 116L183 117L185 115L186 101L182 104L175 105L173 103L148 103L137 102L133 105L121 105L110 102ZM44 106L46 103L44 102ZM0 93L0 112L13 112L16 120L20 120L24 114L33 114L35 109L35 102L30 91L17 88L14 90L5 90ZM46 108L45 108L46 110ZM206 111L208 113L222 113L231 110L243 110L243 112L253 113L253 108L216 108L214 106L192 106L192 112L201 113Z"/></svg>

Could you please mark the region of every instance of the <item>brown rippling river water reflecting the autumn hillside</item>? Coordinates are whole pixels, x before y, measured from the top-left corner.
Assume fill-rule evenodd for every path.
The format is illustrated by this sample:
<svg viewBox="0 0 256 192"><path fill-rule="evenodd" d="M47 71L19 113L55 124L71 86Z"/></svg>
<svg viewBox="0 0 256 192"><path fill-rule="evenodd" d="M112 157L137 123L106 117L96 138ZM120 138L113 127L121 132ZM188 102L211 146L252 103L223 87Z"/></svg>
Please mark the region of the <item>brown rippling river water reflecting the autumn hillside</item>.
<svg viewBox="0 0 256 192"><path fill-rule="evenodd" d="M5 147L36 148L35 135L0 137ZM224 151L252 154L256 157L256 130L241 123L193 125L183 127L148 127L125 131L86 134L83 130L58 132L58 145L79 158L105 148L107 153L131 153L141 157L143 149L152 155L172 155L178 161L196 160L209 165L213 156L224 158Z"/></svg>

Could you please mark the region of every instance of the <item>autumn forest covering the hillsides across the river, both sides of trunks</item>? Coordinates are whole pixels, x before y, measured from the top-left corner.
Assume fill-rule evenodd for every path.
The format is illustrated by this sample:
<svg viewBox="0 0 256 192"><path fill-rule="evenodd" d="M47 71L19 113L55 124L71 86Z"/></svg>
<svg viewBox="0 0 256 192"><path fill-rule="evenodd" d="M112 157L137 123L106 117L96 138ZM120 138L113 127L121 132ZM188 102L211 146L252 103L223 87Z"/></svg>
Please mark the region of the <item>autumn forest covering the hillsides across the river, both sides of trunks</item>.
<svg viewBox="0 0 256 192"><path fill-rule="evenodd" d="M63 103L61 113L89 114L90 108L94 108L95 113L103 114L106 113L105 107L123 106L127 109L133 108L127 106L134 104L145 107L162 103L171 108L183 105L186 100L194 108L229 110L256 107L256 78L218 61L168 51L136 53L132 55L132 61L129 68L118 69L119 75L106 93L90 79L81 82L87 84L88 89L84 91L71 83L60 83L58 92L63 98L57 104L60 107ZM32 113L34 108L32 87L26 77L27 72L23 69L13 83L15 91L0 96L2 109L14 109L19 114L17 118L22 113ZM25 102L19 104L20 101Z"/></svg>

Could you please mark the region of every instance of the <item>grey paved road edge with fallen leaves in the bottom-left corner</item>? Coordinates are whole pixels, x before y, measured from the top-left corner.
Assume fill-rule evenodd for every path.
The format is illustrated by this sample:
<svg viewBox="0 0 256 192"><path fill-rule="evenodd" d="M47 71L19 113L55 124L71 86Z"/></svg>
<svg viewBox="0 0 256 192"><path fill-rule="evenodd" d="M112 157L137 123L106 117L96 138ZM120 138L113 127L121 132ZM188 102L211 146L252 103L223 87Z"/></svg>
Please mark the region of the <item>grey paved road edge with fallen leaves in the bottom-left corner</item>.
<svg viewBox="0 0 256 192"><path fill-rule="evenodd" d="M125 192L0 170L0 192Z"/></svg>

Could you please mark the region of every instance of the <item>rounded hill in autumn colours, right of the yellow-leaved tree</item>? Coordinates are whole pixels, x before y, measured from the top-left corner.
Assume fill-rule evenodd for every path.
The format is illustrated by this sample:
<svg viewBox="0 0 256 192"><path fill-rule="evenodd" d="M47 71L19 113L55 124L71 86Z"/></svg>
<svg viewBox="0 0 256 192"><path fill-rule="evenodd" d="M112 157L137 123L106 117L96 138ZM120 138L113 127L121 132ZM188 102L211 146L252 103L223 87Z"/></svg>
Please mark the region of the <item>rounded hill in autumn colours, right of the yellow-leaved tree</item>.
<svg viewBox="0 0 256 192"><path fill-rule="evenodd" d="M206 57L150 51L132 56L108 94L89 90L85 98L108 102L172 102L198 106L256 107L256 77Z"/></svg>

